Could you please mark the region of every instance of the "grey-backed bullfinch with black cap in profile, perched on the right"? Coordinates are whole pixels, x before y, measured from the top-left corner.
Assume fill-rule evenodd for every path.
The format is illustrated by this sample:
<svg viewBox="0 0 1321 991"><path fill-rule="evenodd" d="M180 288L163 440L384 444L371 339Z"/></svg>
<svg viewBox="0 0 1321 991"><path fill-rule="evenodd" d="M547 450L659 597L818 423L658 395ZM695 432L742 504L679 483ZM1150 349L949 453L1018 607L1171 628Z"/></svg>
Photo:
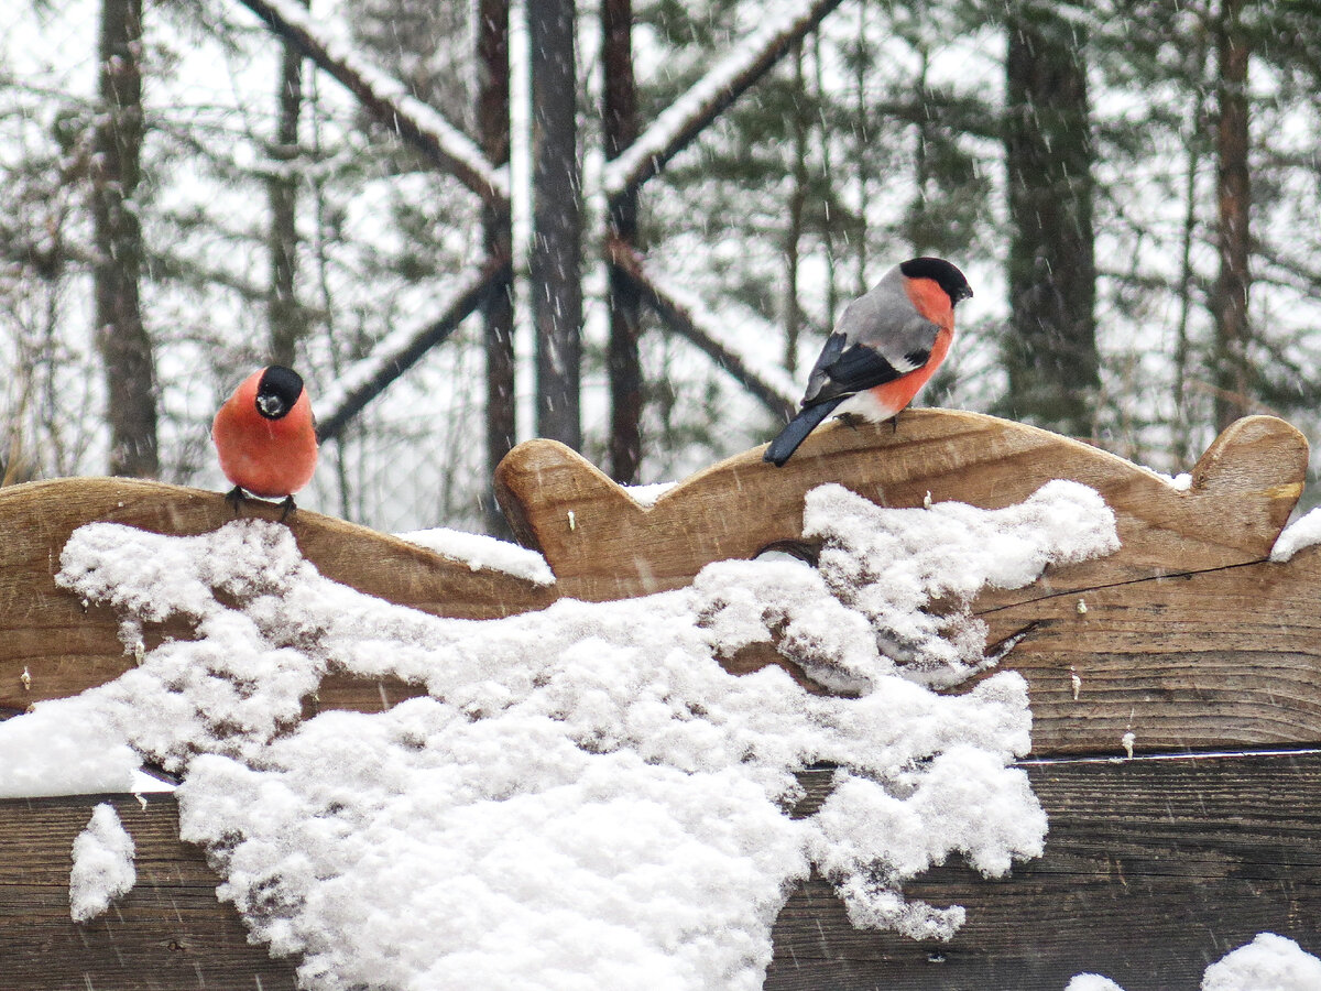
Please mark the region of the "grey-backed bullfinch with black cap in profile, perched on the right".
<svg viewBox="0 0 1321 991"><path fill-rule="evenodd" d="M954 340L954 308L972 295L943 258L910 258L844 308L807 378L802 411L766 448L777 468L832 412L881 423L913 402Z"/></svg>

